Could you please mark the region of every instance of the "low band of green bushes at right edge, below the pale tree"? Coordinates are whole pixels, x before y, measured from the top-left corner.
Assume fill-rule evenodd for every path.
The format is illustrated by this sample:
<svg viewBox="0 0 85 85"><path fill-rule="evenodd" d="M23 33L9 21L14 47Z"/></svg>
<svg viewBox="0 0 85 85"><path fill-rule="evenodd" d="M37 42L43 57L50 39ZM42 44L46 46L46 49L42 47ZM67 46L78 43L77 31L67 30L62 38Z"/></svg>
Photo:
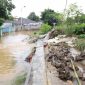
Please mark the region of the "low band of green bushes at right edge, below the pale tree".
<svg viewBox="0 0 85 85"><path fill-rule="evenodd" d="M85 33L85 24L69 24L58 26L57 29L61 30L62 33L72 36L72 35L81 35Z"/></svg>

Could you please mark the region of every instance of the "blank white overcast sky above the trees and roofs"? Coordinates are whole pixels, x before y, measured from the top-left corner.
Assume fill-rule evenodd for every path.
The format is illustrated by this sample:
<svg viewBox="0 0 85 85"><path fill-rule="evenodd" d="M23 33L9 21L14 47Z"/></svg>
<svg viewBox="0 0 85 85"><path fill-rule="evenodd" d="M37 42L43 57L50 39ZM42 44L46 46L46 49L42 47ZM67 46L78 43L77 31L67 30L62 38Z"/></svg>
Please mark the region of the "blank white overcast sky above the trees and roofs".
<svg viewBox="0 0 85 85"><path fill-rule="evenodd" d="M16 8L12 11L14 17L27 17L30 12L40 13L47 8L62 12L65 8L66 0L12 0ZM68 0L68 5L77 3L85 12L85 0ZM25 6L25 7L24 7ZM22 12L21 12L22 9Z"/></svg>

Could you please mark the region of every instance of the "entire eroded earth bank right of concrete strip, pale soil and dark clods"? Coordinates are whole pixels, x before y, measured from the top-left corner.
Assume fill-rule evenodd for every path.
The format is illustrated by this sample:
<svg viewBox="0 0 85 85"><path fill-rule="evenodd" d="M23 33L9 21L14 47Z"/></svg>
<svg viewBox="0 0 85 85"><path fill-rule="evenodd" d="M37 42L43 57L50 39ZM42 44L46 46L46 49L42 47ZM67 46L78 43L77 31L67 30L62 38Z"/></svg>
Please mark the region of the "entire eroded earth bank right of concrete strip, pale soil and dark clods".
<svg viewBox="0 0 85 85"><path fill-rule="evenodd" d="M62 37L58 36L54 39L48 40L48 53L46 55L47 64L50 63L55 68L54 74L57 80L60 78L65 83L65 85L70 85L70 83L77 81L76 84L81 83L84 85L85 83L85 52L78 52L73 46L74 37L66 37L65 35ZM82 62L84 65L82 65ZM49 69L49 65L47 65L47 69ZM75 67L75 69L74 69ZM52 69L50 70L53 73ZM56 73L55 73L56 72ZM78 75L76 76L75 73ZM79 79L78 79L78 78ZM51 79L52 80L52 79ZM56 81L57 81L56 80ZM70 83L68 84L68 81ZM54 80L52 82L55 82ZM61 82L61 81L60 81ZM63 82L57 82L58 85L64 85ZM52 85L55 85L54 83ZM72 84L71 84L72 85Z"/></svg>

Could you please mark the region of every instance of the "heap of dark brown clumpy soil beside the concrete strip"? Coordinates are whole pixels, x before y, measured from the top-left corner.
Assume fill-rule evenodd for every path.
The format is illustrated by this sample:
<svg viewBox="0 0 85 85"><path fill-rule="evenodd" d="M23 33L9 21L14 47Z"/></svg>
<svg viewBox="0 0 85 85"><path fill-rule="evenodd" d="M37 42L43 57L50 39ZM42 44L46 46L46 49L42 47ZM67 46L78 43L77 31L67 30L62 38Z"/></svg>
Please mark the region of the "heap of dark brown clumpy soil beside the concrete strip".
<svg viewBox="0 0 85 85"><path fill-rule="evenodd" d="M60 42L58 44L53 44L48 46L48 49L49 54L47 55L46 60L57 68L59 78L62 80L72 80L74 76L70 60L73 59L73 57L71 56L70 47L67 43ZM77 66L76 70L78 70Z"/></svg>

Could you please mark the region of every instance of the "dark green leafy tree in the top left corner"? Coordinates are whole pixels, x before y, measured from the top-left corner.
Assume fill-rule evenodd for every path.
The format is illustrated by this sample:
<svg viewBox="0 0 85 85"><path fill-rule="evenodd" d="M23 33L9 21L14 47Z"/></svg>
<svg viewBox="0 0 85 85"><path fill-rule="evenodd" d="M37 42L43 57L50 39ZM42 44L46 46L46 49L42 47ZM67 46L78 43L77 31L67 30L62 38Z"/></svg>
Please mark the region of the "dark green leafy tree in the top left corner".
<svg viewBox="0 0 85 85"><path fill-rule="evenodd" d="M15 6L12 4L12 0L0 0L0 23L3 23L3 19L9 19L11 11L14 8Z"/></svg>

